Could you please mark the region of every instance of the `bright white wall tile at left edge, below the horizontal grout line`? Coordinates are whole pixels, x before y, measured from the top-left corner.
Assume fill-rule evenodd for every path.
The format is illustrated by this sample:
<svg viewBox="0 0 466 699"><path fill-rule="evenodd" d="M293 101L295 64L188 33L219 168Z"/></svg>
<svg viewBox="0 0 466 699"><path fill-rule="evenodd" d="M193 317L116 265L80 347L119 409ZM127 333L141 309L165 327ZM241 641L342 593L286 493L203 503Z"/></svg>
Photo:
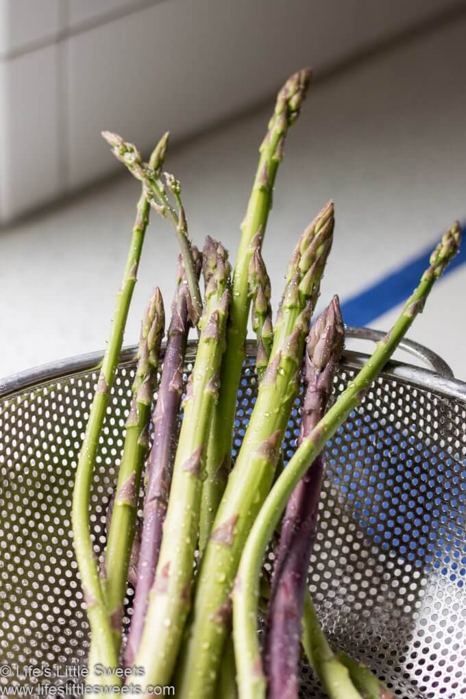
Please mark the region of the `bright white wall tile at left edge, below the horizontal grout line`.
<svg viewBox="0 0 466 699"><path fill-rule="evenodd" d="M59 193L57 45L2 66L0 217L10 219Z"/></svg>

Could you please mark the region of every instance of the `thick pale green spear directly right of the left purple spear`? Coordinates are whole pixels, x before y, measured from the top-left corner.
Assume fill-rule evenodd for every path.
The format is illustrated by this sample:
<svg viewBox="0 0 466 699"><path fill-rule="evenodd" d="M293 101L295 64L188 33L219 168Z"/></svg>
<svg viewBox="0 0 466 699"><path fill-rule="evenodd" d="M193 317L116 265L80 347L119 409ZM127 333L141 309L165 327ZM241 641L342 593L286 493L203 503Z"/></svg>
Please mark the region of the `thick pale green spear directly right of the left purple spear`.
<svg viewBox="0 0 466 699"><path fill-rule="evenodd" d="M204 251L210 254L209 244ZM207 282L201 336L190 377L163 539L150 591L143 636L135 664L146 684L168 684L189 612L194 552L198 540L201 484L212 408L217 400L219 367L225 345L230 265L216 247L215 272Z"/></svg>

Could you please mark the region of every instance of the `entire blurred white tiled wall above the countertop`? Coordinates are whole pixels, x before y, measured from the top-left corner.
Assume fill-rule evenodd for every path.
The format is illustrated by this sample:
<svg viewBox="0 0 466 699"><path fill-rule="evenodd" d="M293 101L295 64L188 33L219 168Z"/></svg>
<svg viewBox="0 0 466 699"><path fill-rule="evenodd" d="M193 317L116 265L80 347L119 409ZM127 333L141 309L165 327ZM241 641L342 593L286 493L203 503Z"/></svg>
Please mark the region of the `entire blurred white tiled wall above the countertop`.
<svg viewBox="0 0 466 699"><path fill-rule="evenodd" d="M165 129L185 138L298 66L319 72L455 6L466 0L0 0L0 224L121 168L102 129L147 152ZM13 154L31 143L41 157L24 174Z"/></svg>

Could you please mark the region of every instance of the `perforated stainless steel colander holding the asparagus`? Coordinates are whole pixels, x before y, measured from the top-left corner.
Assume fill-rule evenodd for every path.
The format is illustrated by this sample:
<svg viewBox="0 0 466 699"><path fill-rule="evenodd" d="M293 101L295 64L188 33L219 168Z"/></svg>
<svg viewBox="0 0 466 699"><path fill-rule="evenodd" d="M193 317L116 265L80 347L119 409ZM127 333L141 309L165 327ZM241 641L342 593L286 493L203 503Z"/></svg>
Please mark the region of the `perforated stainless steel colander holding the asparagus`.
<svg viewBox="0 0 466 699"><path fill-rule="evenodd" d="M348 329L347 336L376 340L379 333ZM395 695L456 699L466 696L466 384L427 349L404 347L430 369L389 363L326 447L310 589L330 642L370 665ZM191 345L186 374L194 352ZM122 353L94 474L97 556L122 455L134 354ZM48 684L71 686L70 668L86 663L71 497L100 358L82 356L0 384L0 691L30 686L29 696L52 696ZM345 352L335 394L364 359ZM235 449L255 395L250 343ZM285 459L298 427L299 399ZM129 587L126 626L132 598ZM64 668L66 679L59 677ZM305 663L301 696L323 697Z"/></svg>

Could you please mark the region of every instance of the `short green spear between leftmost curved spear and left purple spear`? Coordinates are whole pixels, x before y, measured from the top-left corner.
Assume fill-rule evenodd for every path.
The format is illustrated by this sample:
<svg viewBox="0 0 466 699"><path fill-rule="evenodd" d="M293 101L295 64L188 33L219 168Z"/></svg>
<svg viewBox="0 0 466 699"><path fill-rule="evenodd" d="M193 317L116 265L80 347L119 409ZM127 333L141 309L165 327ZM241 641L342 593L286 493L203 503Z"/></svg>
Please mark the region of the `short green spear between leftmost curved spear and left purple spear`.
<svg viewBox="0 0 466 699"><path fill-rule="evenodd" d="M105 554L105 598L117 650L121 641L122 604L133 546L140 479L149 448L150 405L164 323L162 296L160 290L155 289L143 318L138 365L131 388L133 398L126 421L122 463L119 466Z"/></svg>

